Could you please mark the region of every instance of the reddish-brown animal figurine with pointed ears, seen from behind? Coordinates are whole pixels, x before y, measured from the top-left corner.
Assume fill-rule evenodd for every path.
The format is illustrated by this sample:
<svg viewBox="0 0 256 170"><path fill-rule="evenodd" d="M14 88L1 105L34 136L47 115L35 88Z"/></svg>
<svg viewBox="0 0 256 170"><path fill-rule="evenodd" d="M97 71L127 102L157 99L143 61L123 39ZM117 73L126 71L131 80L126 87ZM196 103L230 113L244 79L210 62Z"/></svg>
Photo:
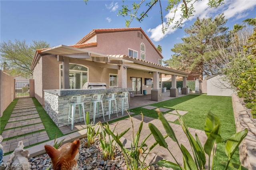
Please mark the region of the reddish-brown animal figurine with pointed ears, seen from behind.
<svg viewBox="0 0 256 170"><path fill-rule="evenodd" d="M46 153L52 159L53 170L78 170L80 140L66 143L56 149L50 145L44 145Z"/></svg>

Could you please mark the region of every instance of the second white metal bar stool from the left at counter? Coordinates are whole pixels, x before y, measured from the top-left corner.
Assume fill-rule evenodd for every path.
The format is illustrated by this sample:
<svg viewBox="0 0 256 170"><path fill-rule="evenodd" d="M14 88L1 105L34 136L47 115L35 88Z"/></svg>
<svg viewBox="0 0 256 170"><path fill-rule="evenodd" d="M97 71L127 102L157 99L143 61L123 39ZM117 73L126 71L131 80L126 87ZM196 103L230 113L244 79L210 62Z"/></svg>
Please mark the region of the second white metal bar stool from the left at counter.
<svg viewBox="0 0 256 170"><path fill-rule="evenodd" d="M89 113L91 113L91 107L92 107L92 103L93 103L93 123L95 123L95 116L102 114L103 115L103 119L105 121L104 118L104 110L103 110L103 102L102 102L102 98L103 98L103 94L97 94L97 95L93 95L92 99L91 99L91 104L90 104L90 111ZM99 104L101 103L102 106L102 113L100 113L100 108L99 108ZM96 114L96 109L98 110L98 113Z"/></svg>

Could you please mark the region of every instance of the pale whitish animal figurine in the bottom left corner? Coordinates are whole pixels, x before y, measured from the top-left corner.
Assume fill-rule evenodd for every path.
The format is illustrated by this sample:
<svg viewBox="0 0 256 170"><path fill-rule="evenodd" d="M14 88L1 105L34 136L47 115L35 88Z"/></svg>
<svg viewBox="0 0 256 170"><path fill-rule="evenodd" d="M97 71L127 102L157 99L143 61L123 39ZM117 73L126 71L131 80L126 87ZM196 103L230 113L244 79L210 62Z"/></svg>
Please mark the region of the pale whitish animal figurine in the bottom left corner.
<svg viewBox="0 0 256 170"><path fill-rule="evenodd" d="M23 142L20 140L18 147L12 152L5 163L5 170L30 170L30 163L28 162L29 151L23 148Z"/></svg>

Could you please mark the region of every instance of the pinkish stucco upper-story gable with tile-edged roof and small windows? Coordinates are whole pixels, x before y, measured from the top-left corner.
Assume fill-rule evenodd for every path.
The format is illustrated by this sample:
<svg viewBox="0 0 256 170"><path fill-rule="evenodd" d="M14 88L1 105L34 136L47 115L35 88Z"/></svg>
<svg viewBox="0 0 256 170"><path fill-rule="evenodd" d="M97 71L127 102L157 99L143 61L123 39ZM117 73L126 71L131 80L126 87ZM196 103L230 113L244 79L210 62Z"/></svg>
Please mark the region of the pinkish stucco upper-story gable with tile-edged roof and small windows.
<svg viewBox="0 0 256 170"><path fill-rule="evenodd" d="M128 55L162 65L162 54L141 28L94 29L76 45L97 43L82 47L106 55Z"/></svg>

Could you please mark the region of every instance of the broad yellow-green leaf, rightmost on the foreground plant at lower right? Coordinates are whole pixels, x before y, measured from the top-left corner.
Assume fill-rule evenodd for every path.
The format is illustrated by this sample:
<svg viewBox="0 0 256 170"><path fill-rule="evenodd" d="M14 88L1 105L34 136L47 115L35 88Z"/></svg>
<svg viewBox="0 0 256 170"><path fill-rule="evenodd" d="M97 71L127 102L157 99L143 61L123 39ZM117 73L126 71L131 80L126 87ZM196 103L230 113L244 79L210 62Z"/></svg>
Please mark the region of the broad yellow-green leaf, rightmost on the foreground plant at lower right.
<svg viewBox="0 0 256 170"><path fill-rule="evenodd" d="M239 144L242 142L242 140L245 138L245 136L248 133L248 129L244 129L241 132L238 132L236 134L233 134L230 136L228 141L225 144L225 153L228 156L229 159L232 158L234 152L238 148Z"/></svg>

